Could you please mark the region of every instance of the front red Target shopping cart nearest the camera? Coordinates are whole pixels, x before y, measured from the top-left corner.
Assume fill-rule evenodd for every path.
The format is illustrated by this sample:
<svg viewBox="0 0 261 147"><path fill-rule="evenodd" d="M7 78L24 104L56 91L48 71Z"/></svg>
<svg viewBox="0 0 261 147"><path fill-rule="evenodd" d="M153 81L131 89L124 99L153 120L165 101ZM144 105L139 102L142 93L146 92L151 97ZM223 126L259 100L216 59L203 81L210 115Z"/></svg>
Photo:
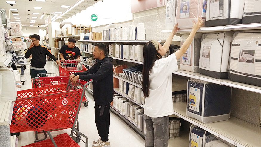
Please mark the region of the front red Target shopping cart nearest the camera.
<svg viewBox="0 0 261 147"><path fill-rule="evenodd" d="M79 81L77 85L69 81L67 84L17 91L18 98L14 102L10 132L48 133L50 140L33 143L32 146L79 146L71 139L76 137L88 147L88 137L78 131L76 123L85 87L91 82L92 80L82 87ZM66 128L72 129L71 138L68 138L67 134L61 134L54 139L50 134L50 131ZM86 142L79 135L86 138Z"/></svg>

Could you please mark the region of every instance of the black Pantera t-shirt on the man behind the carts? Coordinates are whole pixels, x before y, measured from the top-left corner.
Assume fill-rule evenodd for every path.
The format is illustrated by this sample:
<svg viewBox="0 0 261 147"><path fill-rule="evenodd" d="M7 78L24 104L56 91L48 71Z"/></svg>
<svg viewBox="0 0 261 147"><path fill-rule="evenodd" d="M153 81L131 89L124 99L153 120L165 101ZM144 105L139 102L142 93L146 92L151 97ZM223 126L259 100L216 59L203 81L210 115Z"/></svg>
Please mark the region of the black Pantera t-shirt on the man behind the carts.
<svg viewBox="0 0 261 147"><path fill-rule="evenodd" d="M81 56L80 49L76 46L69 48L67 45L63 45L59 52L64 55L65 60L76 60L77 56Z"/></svg>

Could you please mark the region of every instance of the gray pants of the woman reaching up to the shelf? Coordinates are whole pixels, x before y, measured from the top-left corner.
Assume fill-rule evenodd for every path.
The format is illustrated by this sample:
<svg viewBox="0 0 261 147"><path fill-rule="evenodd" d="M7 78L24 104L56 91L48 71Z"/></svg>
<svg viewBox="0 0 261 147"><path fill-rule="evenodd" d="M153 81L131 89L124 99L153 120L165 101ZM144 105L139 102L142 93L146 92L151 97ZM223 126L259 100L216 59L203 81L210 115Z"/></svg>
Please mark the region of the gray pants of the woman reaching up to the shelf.
<svg viewBox="0 0 261 147"><path fill-rule="evenodd" d="M169 116L152 118L144 114L146 124L145 147L168 147Z"/></svg>

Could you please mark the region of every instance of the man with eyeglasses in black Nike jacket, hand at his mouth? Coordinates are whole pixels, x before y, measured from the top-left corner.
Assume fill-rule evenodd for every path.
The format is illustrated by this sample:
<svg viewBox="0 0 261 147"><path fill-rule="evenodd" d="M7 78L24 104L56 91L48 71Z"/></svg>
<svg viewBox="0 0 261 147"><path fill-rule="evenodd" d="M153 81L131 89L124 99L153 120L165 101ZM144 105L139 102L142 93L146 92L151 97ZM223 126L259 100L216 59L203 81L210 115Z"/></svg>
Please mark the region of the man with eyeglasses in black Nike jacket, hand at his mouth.
<svg viewBox="0 0 261 147"><path fill-rule="evenodd" d="M31 35L31 44L25 53L24 57L29 58L32 55L31 66L30 66L30 75L31 78L37 77L38 73L47 73L44 68L46 64L46 55L56 61L57 65L60 65L61 62L53 56L50 51L45 47L41 46L40 36L37 34Z"/></svg>

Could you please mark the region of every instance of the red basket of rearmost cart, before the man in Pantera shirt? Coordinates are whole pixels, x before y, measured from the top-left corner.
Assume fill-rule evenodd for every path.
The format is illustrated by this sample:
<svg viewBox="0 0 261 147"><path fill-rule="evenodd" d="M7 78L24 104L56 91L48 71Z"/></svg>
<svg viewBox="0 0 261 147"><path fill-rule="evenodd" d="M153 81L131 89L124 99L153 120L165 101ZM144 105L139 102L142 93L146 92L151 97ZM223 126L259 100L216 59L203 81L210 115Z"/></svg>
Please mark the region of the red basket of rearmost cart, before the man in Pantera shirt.
<svg viewBox="0 0 261 147"><path fill-rule="evenodd" d="M67 76L70 76L72 73L82 71L87 71L87 68L83 65L82 61L61 61L61 65L59 65L59 73L65 73Z"/></svg>

